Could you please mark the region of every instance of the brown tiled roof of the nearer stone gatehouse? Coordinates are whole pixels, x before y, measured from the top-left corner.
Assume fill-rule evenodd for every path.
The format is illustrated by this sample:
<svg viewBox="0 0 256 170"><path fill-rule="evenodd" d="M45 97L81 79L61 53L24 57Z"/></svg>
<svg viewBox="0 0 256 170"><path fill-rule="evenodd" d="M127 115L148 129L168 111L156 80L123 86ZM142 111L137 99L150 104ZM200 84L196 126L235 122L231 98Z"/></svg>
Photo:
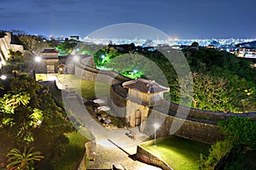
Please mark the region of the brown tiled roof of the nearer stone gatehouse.
<svg viewBox="0 0 256 170"><path fill-rule="evenodd" d="M124 88L136 89L143 93L154 94L159 92L168 92L170 88L161 86L157 82L152 80L146 80L143 78L137 78L136 80L131 80L123 83Z"/></svg>

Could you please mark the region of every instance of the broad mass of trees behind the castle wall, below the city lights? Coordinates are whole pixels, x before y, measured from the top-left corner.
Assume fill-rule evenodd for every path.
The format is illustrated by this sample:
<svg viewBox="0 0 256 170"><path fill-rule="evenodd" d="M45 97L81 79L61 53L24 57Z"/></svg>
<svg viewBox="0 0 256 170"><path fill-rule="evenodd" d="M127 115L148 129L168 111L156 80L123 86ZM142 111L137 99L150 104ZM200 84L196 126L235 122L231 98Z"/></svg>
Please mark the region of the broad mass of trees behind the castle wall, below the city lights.
<svg viewBox="0 0 256 170"><path fill-rule="evenodd" d="M89 47L87 44L86 48ZM98 68L112 69L125 77L152 79L164 86L167 85L167 80L172 102L207 111L256 111L255 70L250 67L250 61L238 58L235 54L199 47L198 42L183 48L183 55L189 63L194 79L191 84L191 81L186 80L186 75L181 75L183 80L177 77L177 70L180 74L186 72L183 71L185 68L182 58L166 58L166 54L181 55L181 51L171 47L163 46L157 47L157 50L149 50L135 47L134 44L108 44L106 47L99 45L98 48L100 50L94 55ZM162 73L163 77L152 76L160 76ZM180 100L181 96L184 96L184 99ZM191 98L192 105L189 102Z"/></svg>

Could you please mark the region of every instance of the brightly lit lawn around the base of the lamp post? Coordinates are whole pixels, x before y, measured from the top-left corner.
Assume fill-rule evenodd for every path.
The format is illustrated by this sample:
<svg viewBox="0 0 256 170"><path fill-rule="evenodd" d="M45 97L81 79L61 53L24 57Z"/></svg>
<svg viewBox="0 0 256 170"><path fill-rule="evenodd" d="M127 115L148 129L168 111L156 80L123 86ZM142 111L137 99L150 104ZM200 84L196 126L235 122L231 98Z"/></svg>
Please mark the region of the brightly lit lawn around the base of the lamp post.
<svg viewBox="0 0 256 170"><path fill-rule="evenodd" d="M176 136L169 136L156 140L154 143L141 144L143 149L150 151L154 156L160 157L174 170L198 170L200 167L200 154L207 155L210 144L204 144Z"/></svg>

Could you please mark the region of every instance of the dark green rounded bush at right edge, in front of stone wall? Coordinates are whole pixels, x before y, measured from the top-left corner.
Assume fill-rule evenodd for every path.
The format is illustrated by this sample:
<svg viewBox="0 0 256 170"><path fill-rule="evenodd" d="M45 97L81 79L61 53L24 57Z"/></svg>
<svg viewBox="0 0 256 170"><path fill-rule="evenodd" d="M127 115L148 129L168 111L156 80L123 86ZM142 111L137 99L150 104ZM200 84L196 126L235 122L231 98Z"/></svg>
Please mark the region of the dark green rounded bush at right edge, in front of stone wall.
<svg viewBox="0 0 256 170"><path fill-rule="evenodd" d="M228 120L219 122L218 126L231 144L256 148L255 120L248 117L231 116Z"/></svg>

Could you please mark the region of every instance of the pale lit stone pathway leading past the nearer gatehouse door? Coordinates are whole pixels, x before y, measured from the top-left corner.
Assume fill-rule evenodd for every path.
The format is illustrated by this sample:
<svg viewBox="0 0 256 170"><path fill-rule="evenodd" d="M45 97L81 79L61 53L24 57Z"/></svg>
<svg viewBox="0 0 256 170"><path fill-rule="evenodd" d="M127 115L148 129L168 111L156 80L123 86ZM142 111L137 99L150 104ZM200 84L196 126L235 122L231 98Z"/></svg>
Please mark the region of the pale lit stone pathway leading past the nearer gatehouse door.
<svg viewBox="0 0 256 170"><path fill-rule="evenodd" d="M82 124L82 126L90 129L90 132L96 138L96 156L95 161L88 161L88 169L110 169L113 164L122 164L127 169L139 170L139 169L160 169L158 167L149 166L140 161L134 161L125 153L129 155L136 154L137 144L140 144L144 140L148 139L143 133L139 133L137 128L133 128L132 131L137 134L137 138L132 140L128 138L125 133L129 132L126 129L108 130L101 124L97 123L86 111L84 103L79 101L81 96L74 92L62 91L62 99L66 111L71 111L73 117ZM83 132L82 127L79 128L80 133ZM114 144L119 145L123 150L120 150L116 145L112 144L108 139L111 139Z"/></svg>

